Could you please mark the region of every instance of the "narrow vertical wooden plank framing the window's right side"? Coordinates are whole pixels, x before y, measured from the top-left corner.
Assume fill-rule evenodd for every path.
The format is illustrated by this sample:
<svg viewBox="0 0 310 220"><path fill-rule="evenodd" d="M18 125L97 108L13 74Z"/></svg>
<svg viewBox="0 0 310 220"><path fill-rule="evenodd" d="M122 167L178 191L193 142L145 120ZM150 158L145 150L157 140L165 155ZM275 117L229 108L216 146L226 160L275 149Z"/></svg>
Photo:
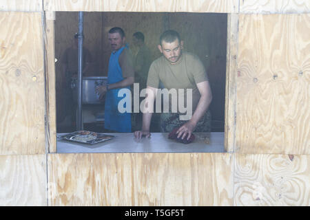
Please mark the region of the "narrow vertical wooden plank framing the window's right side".
<svg viewBox="0 0 310 220"><path fill-rule="evenodd" d="M234 152L236 135L236 72L238 53L238 15L227 17L227 56L225 89L225 151Z"/></svg>

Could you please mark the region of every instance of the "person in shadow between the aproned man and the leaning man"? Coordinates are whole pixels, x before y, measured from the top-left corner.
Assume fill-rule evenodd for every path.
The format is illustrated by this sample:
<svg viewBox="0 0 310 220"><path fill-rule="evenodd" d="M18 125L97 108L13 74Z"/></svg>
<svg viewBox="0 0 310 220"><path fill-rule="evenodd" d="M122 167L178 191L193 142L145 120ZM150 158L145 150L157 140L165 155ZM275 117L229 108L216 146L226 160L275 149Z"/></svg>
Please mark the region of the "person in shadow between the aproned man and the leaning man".
<svg viewBox="0 0 310 220"><path fill-rule="evenodd" d="M134 58L134 83L139 85L139 94L142 89L146 88L147 73L149 72L149 66L152 63L152 53L145 45L144 34L142 32L135 32L132 35L132 43L138 48L138 52ZM140 101L143 98L140 99ZM142 126L142 113L132 114L132 127L134 130L141 128Z"/></svg>

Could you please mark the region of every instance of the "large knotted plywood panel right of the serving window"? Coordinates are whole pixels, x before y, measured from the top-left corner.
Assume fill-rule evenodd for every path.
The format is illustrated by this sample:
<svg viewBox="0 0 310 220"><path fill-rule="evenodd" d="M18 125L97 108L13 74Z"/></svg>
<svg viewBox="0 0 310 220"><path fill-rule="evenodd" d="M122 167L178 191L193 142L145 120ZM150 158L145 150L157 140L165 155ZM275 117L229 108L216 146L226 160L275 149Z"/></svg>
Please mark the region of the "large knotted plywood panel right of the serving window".
<svg viewBox="0 0 310 220"><path fill-rule="evenodd" d="M239 17L236 152L310 153L310 15Z"/></svg>

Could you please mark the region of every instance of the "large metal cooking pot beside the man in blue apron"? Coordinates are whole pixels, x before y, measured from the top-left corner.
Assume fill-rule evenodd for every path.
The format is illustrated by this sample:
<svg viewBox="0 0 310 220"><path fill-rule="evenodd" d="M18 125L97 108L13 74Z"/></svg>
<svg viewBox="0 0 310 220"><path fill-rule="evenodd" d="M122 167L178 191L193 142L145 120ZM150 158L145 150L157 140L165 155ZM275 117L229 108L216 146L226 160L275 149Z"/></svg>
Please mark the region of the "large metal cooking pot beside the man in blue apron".
<svg viewBox="0 0 310 220"><path fill-rule="evenodd" d="M83 104L102 104L103 100L99 100L98 94L96 94L96 87L99 85L106 85L107 77L105 76L90 76L83 77L82 96ZM77 102L77 78L72 78L71 89L73 90L74 102Z"/></svg>

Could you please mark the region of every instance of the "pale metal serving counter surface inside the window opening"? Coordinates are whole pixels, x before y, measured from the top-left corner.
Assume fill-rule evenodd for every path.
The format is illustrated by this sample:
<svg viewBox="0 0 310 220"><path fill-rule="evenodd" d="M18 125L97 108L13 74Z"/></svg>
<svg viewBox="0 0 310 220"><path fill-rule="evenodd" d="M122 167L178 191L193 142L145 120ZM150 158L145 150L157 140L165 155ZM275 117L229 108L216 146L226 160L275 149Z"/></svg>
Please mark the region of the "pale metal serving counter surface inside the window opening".
<svg viewBox="0 0 310 220"><path fill-rule="evenodd" d="M98 144L79 144L57 138L57 153L222 153L224 133L194 133L196 138L190 144L168 139L168 133L152 133L149 138L138 139L133 133L109 133L111 140ZM209 143L205 140L209 137Z"/></svg>

